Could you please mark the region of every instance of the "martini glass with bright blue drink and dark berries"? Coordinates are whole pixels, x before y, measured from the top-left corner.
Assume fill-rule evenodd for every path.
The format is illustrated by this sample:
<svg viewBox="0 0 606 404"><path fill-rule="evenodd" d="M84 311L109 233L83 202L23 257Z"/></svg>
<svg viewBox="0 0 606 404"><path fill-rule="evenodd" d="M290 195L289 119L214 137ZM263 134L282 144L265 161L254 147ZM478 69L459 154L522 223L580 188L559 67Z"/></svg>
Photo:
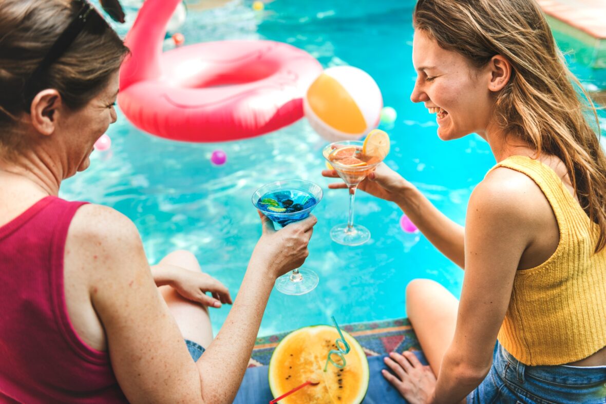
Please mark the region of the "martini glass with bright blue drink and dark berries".
<svg viewBox="0 0 606 404"><path fill-rule="evenodd" d="M279 227L309 216L322 199L318 184L301 179L271 182L253 193L253 205ZM276 279L276 289L284 294L305 294L319 282L318 274L297 268Z"/></svg>

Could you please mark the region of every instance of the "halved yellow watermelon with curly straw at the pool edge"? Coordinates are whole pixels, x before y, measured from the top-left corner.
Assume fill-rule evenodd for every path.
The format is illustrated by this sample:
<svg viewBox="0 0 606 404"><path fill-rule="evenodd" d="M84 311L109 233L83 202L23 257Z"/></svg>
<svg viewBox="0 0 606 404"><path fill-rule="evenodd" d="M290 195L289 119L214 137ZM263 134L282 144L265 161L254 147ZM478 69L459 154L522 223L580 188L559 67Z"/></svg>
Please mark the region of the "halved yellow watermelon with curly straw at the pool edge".
<svg viewBox="0 0 606 404"><path fill-rule="evenodd" d="M326 359L331 350L337 350L339 336L336 328L316 325L299 328L288 334L276 346L269 363L269 386L274 397L302 385L308 380L319 381L280 400L281 404L334 403L359 404L368 389L368 360L362 346L350 334L341 331L350 351L344 355L346 364L339 369ZM341 344L342 346L342 344ZM336 356L333 360L341 363Z"/></svg>

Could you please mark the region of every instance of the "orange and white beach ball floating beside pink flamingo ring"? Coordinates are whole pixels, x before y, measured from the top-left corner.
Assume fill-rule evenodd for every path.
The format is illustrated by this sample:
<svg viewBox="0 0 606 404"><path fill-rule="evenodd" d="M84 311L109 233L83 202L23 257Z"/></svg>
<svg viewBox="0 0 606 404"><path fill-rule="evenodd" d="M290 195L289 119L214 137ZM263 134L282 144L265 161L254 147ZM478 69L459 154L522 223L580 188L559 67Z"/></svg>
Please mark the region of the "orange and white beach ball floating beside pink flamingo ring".
<svg viewBox="0 0 606 404"><path fill-rule="evenodd" d="M375 80L353 66L324 70L303 99L305 117L327 141L353 141L379 125L383 98Z"/></svg>

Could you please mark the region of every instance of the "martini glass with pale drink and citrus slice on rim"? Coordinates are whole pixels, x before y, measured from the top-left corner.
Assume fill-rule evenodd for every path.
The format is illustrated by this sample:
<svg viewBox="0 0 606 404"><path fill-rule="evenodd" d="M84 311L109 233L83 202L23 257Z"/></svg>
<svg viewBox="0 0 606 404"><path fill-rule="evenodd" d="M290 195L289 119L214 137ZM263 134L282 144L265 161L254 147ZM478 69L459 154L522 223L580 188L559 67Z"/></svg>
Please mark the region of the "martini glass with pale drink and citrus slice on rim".
<svg viewBox="0 0 606 404"><path fill-rule="evenodd" d="M347 224L336 225L330 229L330 238L342 245L361 245L370 239L370 231L362 225L353 224L353 207L356 197L356 189L358 184L370 174L375 167L382 161L376 157L366 158L362 154L362 141L340 141L334 142L322 150L324 158L335 169L339 177L345 181L349 188L349 217ZM342 165L338 161L331 159L331 153L335 149L344 147L355 147L355 156L360 161L365 162L364 165Z"/></svg>

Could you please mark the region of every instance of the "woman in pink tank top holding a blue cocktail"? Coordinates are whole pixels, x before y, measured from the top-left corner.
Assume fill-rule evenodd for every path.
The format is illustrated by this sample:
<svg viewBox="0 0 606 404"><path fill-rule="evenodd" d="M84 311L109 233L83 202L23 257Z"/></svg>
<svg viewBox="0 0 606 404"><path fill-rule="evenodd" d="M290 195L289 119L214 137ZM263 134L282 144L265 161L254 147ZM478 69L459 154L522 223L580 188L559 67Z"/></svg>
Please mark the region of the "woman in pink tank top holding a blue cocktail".
<svg viewBox="0 0 606 404"><path fill-rule="evenodd" d="M58 197L116 121L127 53L85 0L0 2L0 402L230 403L276 277L307 257L315 217L278 236L260 214L213 340L207 307L231 297L195 256L150 268L131 220Z"/></svg>

